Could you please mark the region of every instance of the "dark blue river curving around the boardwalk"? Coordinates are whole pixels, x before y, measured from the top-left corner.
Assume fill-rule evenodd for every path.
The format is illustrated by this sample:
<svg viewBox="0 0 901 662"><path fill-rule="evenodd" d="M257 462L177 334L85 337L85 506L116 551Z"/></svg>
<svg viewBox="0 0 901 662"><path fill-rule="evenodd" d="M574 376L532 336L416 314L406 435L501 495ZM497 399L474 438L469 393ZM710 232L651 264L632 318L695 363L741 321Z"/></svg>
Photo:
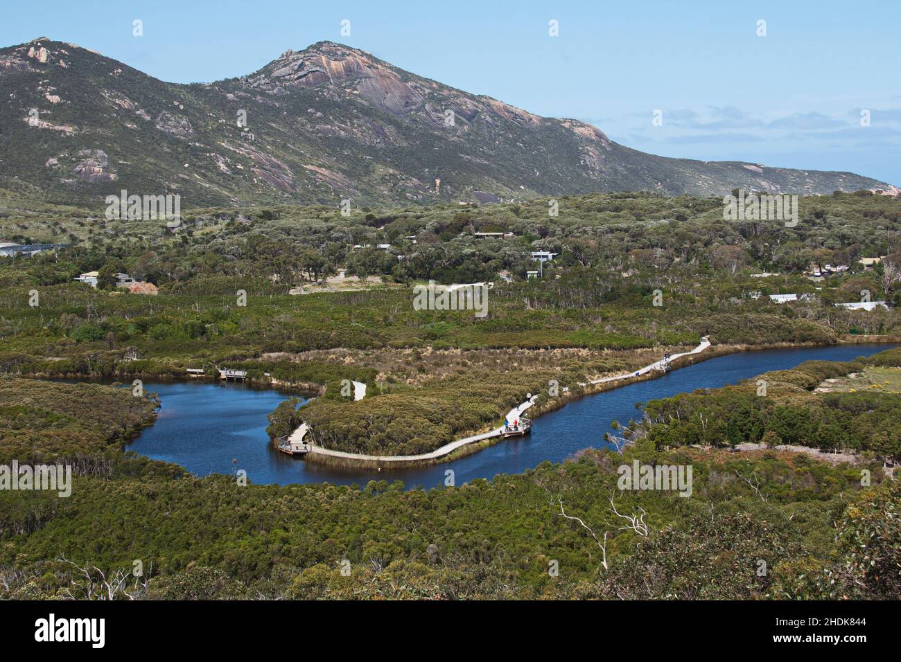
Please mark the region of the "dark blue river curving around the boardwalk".
<svg viewBox="0 0 901 662"><path fill-rule="evenodd" d="M159 419L141 432L129 449L149 458L174 462L197 476L231 474L244 469L253 483L338 483L365 485L369 480L402 480L407 487L444 484L454 471L456 485L474 478L517 474L544 460L558 462L579 449L605 445L610 423L638 418L636 403L697 388L734 384L768 370L795 367L811 359L846 361L893 345L842 345L801 349L764 349L711 358L647 382L588 395L535 419L532 434L482 449L466 458L417 469L345 470L307 464L272 448L267 414L289 394L243 385L145 383L159 394ZM232 461L236 460L236 461Z"/></svg>

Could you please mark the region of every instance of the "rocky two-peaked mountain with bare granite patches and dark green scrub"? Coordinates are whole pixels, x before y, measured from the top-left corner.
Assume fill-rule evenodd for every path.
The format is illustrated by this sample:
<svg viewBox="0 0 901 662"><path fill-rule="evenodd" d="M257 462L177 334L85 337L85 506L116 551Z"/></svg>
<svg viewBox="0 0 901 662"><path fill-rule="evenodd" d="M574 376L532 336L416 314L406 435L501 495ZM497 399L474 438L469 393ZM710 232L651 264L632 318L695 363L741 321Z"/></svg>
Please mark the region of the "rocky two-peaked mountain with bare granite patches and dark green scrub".
<svg viewBox="0 0 901 662"><path fill-rule="evenodd" d="M330 41L248 76L177 85L41 38L0 50L0 90L0 180L57 201L103 204L123 188L179 194L183 207L889 188L847 172L653 156Z"/></svg>

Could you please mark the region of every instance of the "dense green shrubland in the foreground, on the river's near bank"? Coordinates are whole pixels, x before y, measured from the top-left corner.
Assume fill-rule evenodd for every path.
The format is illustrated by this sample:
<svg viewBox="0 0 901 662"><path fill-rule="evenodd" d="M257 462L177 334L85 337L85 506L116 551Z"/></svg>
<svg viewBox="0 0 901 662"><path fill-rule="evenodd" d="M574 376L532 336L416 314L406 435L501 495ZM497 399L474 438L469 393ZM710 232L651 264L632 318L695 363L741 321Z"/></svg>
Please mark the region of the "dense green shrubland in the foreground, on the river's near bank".
<svg viewBox="0 0 901 662"><path fill-rule="evenodd" d="M884 363L893 353L872 360ZM805 387L860 365L809 362L796 375L775 376L786 380L774 379L772 395L757 401L773 399L775 411L783 393L816 399ZM901 589L901 494L878 464L833 467L771 450L660 450L657 424L623 456L589 449L562 464L454 488L241 486L123 455L123 435L152 407L128 389L14 377L0 386L4 440L20 440L5 447L5 458L66 458L72 449L55 439L72 438L83 440L77 452L108 461L77 476L68 498L0 492L5 597L86 597L68 562L110 575L130 571L136 558L150 576L136 593L158 598L896 599ZM842 407L855 417L875 409L896 420L893 397L867 396ZM730 421L744 420L751 401L716 389L682 396L681 415L696 411L693 401L702 397L709 420L724 421L709 440L728 445ZM657 416L665 406L654 402L649 411ZM692 496L620 492L616 468L633 458L690 464ZM872 487L861 481L862 467ZM621 528L610 496L619 512L643 509L647 537ZM608 568L588 532L561 516L561 503L599 540L607 533ZM345 560L350 576L341 575ZM551 561L558 576L548 572Z"/></svg>

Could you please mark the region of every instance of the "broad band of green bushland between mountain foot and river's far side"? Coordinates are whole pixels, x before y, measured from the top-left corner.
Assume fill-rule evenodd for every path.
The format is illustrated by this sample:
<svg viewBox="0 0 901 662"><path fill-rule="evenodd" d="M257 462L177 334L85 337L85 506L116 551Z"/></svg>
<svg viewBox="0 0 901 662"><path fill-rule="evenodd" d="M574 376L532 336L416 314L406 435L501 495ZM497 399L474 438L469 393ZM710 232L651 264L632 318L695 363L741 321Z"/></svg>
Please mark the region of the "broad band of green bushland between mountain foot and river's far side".
<svg viewBox="0 0 901 662"><path fill-rule="evenodd" d="M74 209L34 204L39 209L21 222L14 215L4 220L7 228L32 234L6 239L67 240L59 230L80 222ZM61 358L58 372L124 375L134 372L124 359L128 353L149 361L138 364L141 372L160 375L187 363L311 349L629 349L691 344L703 334L718 343L766 344L834 342L842 333L901 329L894 310L862 313L832 305L856 301L862 290L896 302L891 269L864 272L857 265L861 256L898 248L895 199L868 193L804 198L802 220L790 229L778 222L725 222L721 208L714 198L594 194L561 199L555 218L534 201L365 210L348 218L321 205L195 210L177 235L144 222L82 222L74 227L84 232L68 238L73 245L57 255L0 260L4 363L48 372L43 362ZM486 228L516 236L472 236ZM411 235L417 243L405 240ZM381 242L393 244L390 254L352 249ZM535 267L528 251L536 249L560 256L545 265L543 279L525 282L525 270ZM801 274L811 263L849 264L852 272L815 284ZM287 295L308 277L341 266L349 274L379 274L394 286ZM111 295L71 283L79 273L105 267L159 284L160 295ZM779 275L751 277L761 269ZM502 270L513 284L497 279ZM408 286L428 278L495 280L487 318L414 311ZM41 299L36 307L29 305L32 289ZM658 290L660 307L653 305ZM247 293L246 306L239 291ZM766 296L791 292L818 300L776 305Z"/></svg>

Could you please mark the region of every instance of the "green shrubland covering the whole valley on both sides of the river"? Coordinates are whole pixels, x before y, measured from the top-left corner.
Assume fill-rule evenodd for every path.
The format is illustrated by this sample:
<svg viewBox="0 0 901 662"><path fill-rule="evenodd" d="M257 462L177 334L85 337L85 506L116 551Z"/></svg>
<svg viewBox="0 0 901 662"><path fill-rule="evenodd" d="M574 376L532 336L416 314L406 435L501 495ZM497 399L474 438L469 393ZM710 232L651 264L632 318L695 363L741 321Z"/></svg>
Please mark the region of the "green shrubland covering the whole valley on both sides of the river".
<svg viewBox="0 0 901 662"><path fill-rule="evenodd" d="M56 256L0 261L0 372L124 380L243 367L255 378L329 385L305 407L296 409L296 400L279 406L270 416L273 436L310 417L333 448L412 453L498 420L550 378L568 385L621 370L623 358L598 352L521 374L461 369L414 386L341 357L299 355L432 347L502 348L515 357L517 349L690 345L705 334L716 343L761 345L899 329L895 310L831 305L858 299L861 289L897 303L885 268L819 284L800 273L812 261L853 265L860 256L896 251L896 200L805 198L794 229L723 222L720 201L689 196L585 195L563 198L558 218L546 210L544 201L368 210L350 219L322 206L198 210L177 236L147 223L86 222L89 210L42 205L27 217L6 214L4 239L77 245ZM517 237L471 236L496 229ZM405 243L407 235L417 243ZM405 259L350 249L383 241ZM541 281L523 281L533 267L530 249L561 253ZM70 282L111 260L158 283L159 296L111 295ZM395 285L287 295L339 266ZM514 283L496 281L484 320L412 308L407 286L415 279L470 282L502 269ZM752 278L760 269L780 275ZM28 303L32 289L41 295L36 307ZM237 303L241 289L246 307ZM657 289L661 307L652 304ZM754 292L763 296L754 299ZM770 304L765 295L780 292L816 292L819 300ZM802 455L725 449L762 441L860 451L864 460L897 455L901 396L812 389L861 366L897 366L899 356L890 350L863 362L809 362L762 376L766 397L751 380L651 402L624 458L586 451L518 476L408 492L387 481L363 489L239 487L227 476L189 476L123 455L123 440L152 410L149 399L127 389L5 376L0 460L74 459L80 470L68 499L0 492L0 585L5 597L62 597L79 591L62 558L107 573L130 571L141 558L151 575L141 595L169 598L897 598L899 494L883 480L880 462L831 467ZM428 372L427 358L409 360ZM335 386L345 378L366 382L369 396L343 401ZM685 448L690 444L710 448ZM616 467L633 457L691 463L693 496L617 493ZM861 467L872 471L874 486L860 484ZM647 512L647 538L620 529L611 494L622 512ZM560 515L560 502L599 537L609 532L609 569L587 531ZM869 556L861 555L864 546ZM760 558L769 566L762 577ZM350 576L341 575L344 559ZM551 560L560 576L549 575Z"/></svg>

